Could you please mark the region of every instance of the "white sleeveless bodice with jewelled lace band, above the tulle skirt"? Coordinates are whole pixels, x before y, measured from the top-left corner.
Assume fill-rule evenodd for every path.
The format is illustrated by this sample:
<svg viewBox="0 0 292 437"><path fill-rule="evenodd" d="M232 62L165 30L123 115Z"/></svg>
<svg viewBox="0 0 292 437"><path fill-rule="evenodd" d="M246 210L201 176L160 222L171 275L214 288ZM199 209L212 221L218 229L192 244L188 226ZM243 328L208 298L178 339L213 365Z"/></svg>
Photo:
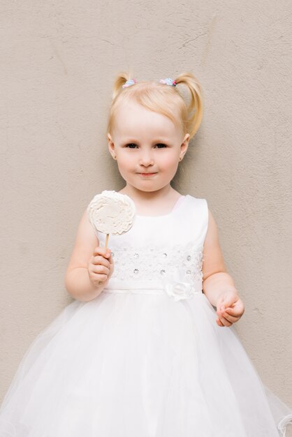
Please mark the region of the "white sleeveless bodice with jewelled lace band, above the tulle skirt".
<svg viewBox="0 0 292 437"><path fill-rule="evenodd" d="M187 194L162 216L136 215L132 228L110 235L114 272L105 289L153 289L181 281L202 291L203 243L208 210L203 198ZM97 232L99 245L106 235Z"/></svg>

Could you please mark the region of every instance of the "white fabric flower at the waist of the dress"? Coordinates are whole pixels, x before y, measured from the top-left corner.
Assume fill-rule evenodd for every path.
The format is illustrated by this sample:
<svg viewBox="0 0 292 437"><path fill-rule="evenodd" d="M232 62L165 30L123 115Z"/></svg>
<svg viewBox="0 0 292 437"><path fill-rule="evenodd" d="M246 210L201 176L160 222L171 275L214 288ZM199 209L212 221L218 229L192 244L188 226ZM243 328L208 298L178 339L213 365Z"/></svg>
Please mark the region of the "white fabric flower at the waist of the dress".
<svg viewBox="0 0 292 437"><path fill-rule="evenodd" d="M163 279L164 290L170 297L173 297L175 302L190 299L195 294L202 293L200 286L196 287L196 283L185 281L184 276L182 269L177 268Z"/></svg>

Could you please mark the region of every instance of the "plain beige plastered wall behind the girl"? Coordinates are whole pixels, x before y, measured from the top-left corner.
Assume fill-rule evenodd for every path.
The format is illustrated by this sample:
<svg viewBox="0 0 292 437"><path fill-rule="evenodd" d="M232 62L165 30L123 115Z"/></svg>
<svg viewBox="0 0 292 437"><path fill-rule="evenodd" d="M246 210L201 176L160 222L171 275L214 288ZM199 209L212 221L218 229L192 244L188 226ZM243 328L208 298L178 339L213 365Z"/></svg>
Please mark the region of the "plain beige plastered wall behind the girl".
<svg viewBox="0 0 292 437"><path fill-rule="evenodd" d="M1 397L71 302L64 274L85 207L124 186L105 124L113 78L132 67L138 80L190 70L203 86L173 186L207 199L245 303L237 332L292 406L289 3L1 1Z"/></svg>

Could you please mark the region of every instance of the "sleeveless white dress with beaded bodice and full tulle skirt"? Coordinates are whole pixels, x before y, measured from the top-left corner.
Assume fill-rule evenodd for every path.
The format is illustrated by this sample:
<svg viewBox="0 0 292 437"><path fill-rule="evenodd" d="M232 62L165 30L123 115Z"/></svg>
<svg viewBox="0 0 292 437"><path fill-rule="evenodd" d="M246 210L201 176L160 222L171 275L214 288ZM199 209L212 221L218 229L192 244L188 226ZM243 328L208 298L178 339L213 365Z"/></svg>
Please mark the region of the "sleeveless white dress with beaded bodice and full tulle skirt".
<svg viewBox="0 0 292 437"><path fill-rule="evenodd" d="M206 200L185 195L110 235L108 286L31 343L1 405L1 437L286 435L291 408L202 292L207 223Z"/></svg>

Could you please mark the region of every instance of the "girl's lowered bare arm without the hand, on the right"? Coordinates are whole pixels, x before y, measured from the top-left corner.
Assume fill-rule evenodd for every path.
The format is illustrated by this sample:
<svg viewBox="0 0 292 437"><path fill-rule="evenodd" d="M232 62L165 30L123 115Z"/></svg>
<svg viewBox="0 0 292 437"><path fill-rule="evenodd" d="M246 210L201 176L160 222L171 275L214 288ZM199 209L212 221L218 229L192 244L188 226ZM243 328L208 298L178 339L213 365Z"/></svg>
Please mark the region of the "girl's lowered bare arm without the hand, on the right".
<svg viewBox="0 0 292 437"><path fill-rule="evenodd" d="M209 223L203 249L203 292L213 306L226 290L234 290L235 284L226 272L223 255L219 245L217 224L209 211Z"/></svg>

